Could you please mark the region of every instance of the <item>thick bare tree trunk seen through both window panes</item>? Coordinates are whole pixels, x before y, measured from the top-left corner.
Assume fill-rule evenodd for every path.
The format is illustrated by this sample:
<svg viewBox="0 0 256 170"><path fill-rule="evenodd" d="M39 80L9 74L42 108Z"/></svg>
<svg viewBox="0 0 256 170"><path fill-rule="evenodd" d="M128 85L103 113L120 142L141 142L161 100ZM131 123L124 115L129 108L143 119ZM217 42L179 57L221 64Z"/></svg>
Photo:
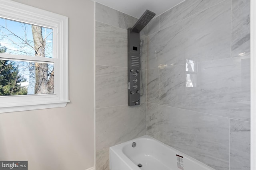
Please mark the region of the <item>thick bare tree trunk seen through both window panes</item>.
<svg viewBox="0 0 256 170"><path fill-rule="evenodd" d="M45 57L45 42L42 37L42 27L32 25L32 35L34 39L35 55ZM52 94L54 90L54 72L52 71L49 80L47 80L48 64L35 63L35 69L35 94Z"/></svg>

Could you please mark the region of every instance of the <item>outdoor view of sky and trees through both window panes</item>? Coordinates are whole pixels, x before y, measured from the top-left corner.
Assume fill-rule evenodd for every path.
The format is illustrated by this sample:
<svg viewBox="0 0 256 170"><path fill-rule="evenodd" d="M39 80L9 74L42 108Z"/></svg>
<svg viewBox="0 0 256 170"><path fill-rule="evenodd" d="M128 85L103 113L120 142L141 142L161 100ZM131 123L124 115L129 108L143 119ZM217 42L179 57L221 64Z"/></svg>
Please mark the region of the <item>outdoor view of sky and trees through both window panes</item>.
<svg viewBox="0 0 256 170"><path fill-rule="evenodd" d="M54 93L54 63L38 57L53 58L53 29L0 18L0 96Z"/></svg>

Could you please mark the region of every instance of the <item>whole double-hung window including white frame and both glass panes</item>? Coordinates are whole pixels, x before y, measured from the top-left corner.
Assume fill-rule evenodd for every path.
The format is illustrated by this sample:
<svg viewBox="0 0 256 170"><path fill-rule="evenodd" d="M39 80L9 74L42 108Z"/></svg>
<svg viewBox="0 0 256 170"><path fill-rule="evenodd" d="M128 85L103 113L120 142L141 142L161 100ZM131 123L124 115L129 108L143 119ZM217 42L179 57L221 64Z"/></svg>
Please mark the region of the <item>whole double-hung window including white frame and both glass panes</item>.
<svg viewBox="0 0 256 170"><path fill-rule="evenodd" d="M68 18L0 0L0 113L65 107Z"/></svg>

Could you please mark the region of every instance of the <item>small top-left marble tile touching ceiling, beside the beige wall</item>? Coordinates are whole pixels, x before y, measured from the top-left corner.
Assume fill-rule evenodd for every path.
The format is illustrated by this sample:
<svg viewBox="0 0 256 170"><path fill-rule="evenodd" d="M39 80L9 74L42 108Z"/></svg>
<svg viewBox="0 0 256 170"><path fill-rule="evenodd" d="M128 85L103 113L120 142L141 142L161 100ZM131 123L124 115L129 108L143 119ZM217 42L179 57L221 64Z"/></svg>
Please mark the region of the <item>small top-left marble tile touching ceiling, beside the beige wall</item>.
<svg viewBox="0 0 256 170"><path fill-rule="evenodd" d="M118 11L96 2L95 20L118 27Z"/></svg>

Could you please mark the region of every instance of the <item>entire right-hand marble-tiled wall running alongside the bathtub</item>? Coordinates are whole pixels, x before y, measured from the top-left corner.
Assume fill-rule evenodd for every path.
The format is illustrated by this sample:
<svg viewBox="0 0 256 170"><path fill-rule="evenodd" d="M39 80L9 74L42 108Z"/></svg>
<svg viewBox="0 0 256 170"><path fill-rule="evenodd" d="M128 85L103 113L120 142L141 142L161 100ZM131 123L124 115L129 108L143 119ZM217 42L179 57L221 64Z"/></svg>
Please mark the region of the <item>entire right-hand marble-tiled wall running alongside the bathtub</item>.
<svg viewBox="0 0 256 170"><path fill-rule="evenodd" d="M250 0L186 0L150 21L147 135L250 169Z"/></svg>

